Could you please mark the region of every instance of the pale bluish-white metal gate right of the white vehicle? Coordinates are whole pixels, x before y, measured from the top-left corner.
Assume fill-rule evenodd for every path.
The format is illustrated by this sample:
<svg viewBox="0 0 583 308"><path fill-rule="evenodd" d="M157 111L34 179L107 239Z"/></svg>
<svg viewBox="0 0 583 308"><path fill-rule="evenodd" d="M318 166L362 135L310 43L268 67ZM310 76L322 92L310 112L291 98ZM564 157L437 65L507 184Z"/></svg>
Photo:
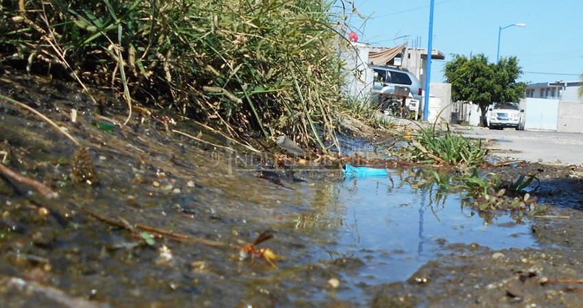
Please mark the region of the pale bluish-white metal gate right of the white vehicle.
<svg viewBox="0 0 583 308"><path fill-rule="evenodd" d="M558 99L526 99L525 129L556 131L559 118Z"/></svg>

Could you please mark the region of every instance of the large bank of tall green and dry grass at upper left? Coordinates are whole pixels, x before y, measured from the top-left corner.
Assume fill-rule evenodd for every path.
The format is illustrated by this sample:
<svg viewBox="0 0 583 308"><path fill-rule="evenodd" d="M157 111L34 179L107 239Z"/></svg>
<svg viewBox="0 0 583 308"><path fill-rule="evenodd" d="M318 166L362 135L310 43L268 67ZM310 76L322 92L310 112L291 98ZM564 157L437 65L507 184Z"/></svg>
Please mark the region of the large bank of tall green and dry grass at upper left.
<svg viewBox="0 0 583 308"><path fill-rule="evenodd" d="M321 0L12 1L2 61L61 68L230 136L335 140L347 20ZM336 12L336 11L335 11ZM44 64L41 65L41 64ZM129 119L129 117L128 117Z"/></svg>

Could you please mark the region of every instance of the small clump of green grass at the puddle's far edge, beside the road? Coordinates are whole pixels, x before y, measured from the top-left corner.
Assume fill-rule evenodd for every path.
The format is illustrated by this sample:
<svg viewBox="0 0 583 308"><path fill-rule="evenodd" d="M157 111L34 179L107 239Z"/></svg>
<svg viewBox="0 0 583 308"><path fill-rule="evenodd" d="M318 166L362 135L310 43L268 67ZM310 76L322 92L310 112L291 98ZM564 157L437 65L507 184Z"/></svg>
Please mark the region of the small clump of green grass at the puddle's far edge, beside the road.
<svg viewBox="0 0 583 308"><path fill-rule="evenodd" d="M486 162L488 150L481 140L471 140L449 129L436 129L436 125L420 128L411 146L405 148L407 158L423 164L439 164L470 168Z"/></svg>

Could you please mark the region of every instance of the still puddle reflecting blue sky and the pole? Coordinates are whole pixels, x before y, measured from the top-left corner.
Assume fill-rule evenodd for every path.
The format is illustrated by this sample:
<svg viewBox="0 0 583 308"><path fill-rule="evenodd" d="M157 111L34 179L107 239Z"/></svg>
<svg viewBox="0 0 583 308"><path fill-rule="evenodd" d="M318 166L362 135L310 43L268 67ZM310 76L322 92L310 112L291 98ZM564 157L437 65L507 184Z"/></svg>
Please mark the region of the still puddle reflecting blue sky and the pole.
<svg viewBox="0 0 583 308"><path fill-rule="evenodd" d="M516 224L507 214L486 223L462 206L460 194L438 194L436 185L419 184L406 171L337 184L331 214L312 230L322 237L321 251L313 255L364 261L356 277L344 277L357 285L405 281L427 261L448 253L444 242L493 249L536 247L528 222Z"/></svg>

